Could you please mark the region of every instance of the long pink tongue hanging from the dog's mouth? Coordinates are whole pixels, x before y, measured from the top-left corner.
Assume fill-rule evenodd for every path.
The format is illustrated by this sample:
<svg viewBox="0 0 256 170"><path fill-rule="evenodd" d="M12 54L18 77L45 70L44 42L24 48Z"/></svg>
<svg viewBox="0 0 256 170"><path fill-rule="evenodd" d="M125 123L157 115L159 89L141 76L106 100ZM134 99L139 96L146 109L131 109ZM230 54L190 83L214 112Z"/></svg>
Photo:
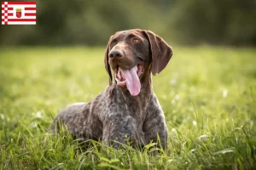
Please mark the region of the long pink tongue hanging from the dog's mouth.
<svg viewBox="0 0 256 170"><path fill-rule="evenodd" d="M141 82L137 77L137 66L133 67L131 70L123 70L122 74L125 76L126 86L132 96L137 96L141 91Z"/></svg>

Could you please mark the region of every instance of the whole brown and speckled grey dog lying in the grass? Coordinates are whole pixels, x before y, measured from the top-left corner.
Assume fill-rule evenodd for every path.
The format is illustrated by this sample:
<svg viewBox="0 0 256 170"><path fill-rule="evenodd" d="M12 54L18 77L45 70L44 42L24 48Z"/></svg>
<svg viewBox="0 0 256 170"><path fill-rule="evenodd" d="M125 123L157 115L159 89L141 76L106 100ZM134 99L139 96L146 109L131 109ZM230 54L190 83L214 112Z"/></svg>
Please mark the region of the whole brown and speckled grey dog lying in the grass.
<svg viewBox="0 0 256 170"><path fill-rule="evenodd" d="M114 148L120 143L141 146L152 141L166 148L166 121L151 73L160 73L171 57L172 48L152 31L116 32L104 59L109 86L89 103L61 111L51 130L58 132L61 122L75 139L102 140Z"/></svg>

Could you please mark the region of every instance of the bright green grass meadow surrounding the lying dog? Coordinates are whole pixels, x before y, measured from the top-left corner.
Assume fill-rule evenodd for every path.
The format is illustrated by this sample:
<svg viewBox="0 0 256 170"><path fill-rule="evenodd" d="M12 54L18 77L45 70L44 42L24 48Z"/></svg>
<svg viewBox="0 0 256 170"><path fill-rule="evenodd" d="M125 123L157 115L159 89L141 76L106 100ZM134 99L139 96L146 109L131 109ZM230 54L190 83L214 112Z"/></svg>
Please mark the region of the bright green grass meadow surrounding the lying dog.
<svg viewBox="0 0 256 170"><path fill-rule="evenodd" d="M256 50L175 48L154 77L168 150L87 150L49 133L58 111L108 85L103 48L0 49L0 169L256 168Z"/></svg>

